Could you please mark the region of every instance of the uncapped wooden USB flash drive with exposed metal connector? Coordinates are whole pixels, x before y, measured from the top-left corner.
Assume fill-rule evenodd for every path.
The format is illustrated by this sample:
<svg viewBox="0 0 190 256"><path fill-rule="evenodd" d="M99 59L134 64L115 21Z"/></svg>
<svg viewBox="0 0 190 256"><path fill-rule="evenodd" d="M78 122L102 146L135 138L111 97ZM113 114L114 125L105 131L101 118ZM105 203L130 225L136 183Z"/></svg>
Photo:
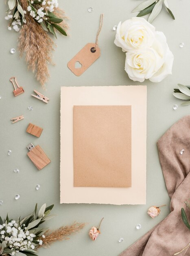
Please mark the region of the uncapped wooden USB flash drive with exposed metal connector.
<svg viewBox="0 0 190 256"><path fill-rule="evenodd" d="M30 143L28 144L27 148L30 151L27 153L27 155L38 170L41 170L51 162L39 145L34 146L32 143Z"/></svg>

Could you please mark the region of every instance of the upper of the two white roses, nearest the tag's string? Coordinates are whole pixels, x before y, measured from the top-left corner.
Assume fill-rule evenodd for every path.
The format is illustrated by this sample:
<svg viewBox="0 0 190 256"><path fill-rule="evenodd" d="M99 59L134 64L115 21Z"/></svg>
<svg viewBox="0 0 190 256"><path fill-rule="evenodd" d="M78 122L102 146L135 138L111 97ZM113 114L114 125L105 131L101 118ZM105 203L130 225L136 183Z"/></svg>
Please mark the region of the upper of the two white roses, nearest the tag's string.
<svg viewBox="0 0 190 256"><path fill-rule="evenodd" d="M121 47L123 52L134 49L149 48L155 40L155 27L144 18L134 17L119 22L117 27L115 45Z"/></svg>

